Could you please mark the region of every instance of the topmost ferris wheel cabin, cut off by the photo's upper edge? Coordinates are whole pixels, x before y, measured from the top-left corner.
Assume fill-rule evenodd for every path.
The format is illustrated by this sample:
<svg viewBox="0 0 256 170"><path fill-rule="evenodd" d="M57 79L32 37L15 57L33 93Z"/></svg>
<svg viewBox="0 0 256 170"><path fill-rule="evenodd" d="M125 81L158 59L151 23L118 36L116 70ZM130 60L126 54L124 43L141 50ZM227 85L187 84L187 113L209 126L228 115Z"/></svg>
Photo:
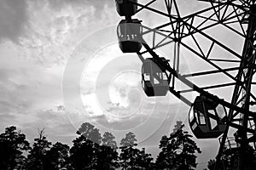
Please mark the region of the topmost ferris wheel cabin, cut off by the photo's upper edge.
<svg viewBox="0 0 256 170"><path fill-rule="evenodd" d="M120 16L132 16L137 13L137 0L115 0L116 10Z"/></svg>

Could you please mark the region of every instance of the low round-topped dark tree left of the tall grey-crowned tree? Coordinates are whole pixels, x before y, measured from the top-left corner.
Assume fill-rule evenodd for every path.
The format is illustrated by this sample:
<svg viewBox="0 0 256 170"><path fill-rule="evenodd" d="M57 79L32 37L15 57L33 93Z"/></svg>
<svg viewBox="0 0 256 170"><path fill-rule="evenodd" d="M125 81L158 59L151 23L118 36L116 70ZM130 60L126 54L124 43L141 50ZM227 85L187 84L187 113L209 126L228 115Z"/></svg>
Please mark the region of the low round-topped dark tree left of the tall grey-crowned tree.
<svg viewBox="0 0 256 170"><path fill-rule="evenodd" d="M46 169L59 170L68 167L68 151L67 144L56 142L46 153Z"/></svg>

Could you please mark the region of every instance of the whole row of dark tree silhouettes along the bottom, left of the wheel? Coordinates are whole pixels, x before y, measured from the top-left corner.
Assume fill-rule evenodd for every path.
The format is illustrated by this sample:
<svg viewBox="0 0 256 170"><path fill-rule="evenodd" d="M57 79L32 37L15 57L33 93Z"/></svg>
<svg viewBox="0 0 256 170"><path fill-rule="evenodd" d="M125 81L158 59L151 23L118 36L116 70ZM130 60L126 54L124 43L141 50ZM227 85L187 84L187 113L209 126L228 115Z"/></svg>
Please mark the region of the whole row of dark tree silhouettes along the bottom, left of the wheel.
<svg viewBox="0 0 256 170"><path fill-rule="evenodd" d="M38 131L32 144L15 126L0 134L1 170L190 170L197 166L201 153L183 123L177 122L173 132L160 139L160 153L155 161L145 148L139 148L136 135L126 133L118 146L112 133L103 135L89 122L84 122L72 146L52 144L44 129Z"/></svg>

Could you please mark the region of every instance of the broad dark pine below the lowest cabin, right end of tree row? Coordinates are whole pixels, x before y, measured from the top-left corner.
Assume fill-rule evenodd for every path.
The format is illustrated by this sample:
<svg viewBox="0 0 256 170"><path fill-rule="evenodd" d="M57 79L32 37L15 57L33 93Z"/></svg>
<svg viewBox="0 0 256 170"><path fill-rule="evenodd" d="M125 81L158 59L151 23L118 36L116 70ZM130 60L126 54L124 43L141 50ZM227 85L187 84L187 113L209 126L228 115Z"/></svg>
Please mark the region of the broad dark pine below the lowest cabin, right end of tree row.
<svg viewBox="0 0 256 170"><path fill-rule="evenodd" d="M201 150L190 139L192 136L183 131L183 127L180 126L169 137L165 135L160 140L161 151L155 162L158 169L195 169L195 152L201 153Z"/></svg>

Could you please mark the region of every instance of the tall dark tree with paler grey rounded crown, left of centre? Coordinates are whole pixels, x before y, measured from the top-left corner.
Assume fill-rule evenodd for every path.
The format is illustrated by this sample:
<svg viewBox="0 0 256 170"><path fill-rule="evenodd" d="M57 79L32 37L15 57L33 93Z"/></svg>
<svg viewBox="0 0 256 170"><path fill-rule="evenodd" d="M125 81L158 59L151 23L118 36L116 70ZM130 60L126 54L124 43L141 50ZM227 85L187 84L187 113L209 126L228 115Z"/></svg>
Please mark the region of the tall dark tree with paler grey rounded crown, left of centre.
<svg viewBox="0 0 256 170"><path fill-rule="evenodd" d="M100 164L97 156L100 154L101 133L89 122L85 122L77 132L80 136L73 140L70 149L71 167L76 170L97 169Z"/></svg>

